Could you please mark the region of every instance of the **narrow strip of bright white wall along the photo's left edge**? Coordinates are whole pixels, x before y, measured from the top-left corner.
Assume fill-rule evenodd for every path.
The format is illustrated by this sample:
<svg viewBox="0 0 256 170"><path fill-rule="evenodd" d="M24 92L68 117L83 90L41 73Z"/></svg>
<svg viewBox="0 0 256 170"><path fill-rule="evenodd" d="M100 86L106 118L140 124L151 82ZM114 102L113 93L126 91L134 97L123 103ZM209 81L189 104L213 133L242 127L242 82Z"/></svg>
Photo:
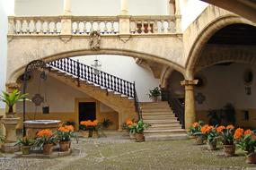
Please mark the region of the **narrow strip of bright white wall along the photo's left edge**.
<svg viewBox="0 0 256 170"><path fill-rule="evenodd" d="M0 0L0 91L5 90L6 58L7 58L7 15L13 13L13 0ZM0 110L4 103L0 101Z"/></svg>

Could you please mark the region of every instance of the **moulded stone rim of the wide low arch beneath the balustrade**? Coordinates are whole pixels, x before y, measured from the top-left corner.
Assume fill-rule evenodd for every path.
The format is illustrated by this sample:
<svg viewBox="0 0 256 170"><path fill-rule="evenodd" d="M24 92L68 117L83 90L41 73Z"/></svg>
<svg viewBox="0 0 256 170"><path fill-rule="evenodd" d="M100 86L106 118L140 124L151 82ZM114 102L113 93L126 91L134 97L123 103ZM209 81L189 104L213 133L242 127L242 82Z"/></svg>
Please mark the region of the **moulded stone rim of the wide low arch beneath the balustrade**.
<svg viewBox="0 0 256 170"><path fill-rule="evenodd" d="M95 50L91 50L91 49L79 49L79 50L65 51L65 52L54 54L54 55L46 55L46 56L43 56L43 55L38 56L39 53L40 53L40 51L37 51L35 53L36 58L39 58L39 59L45 61L46 63L55 61L55 60L58 60L61 58L81 56L81 55L124 55L124 56L128 56L128 57L142 58L142 59L154 62L154 63L163 64L168 67L171 67L172 69L176 70L177 72L182 73L185 71L185 69L180 64L176 64L176 63L174 63L166 58L163 58L161 56L150 55L150 54L145 54L145 53L140 53L137 51L130 51L130 50L101 49L101 50L95 51ZM16 82L17 79L24 72L24 68L25 68L26 64L27 63L24 63L19 68L13 69L13 72L10 73L6 84Z"/></svg>

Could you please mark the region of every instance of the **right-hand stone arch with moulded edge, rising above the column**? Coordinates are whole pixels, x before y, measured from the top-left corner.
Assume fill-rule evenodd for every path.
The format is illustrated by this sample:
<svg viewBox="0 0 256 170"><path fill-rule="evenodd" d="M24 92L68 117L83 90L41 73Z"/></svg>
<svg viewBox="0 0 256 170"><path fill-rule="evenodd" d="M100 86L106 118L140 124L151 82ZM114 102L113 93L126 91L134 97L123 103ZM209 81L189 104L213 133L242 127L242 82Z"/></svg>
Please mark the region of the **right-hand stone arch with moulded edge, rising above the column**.
<svg viewBox="0 0 256 170"><path fill-rule="evenodd" d="M216 6L209 5L207 9L201 13L199 18L194 21L190 27L184 32L184 54L187 58L185 76L187 79L192 79L196 70L197 62L202 54L203 48L207 41L211 38L217 30L221 30L227 25L234 23L244 23L256 26L252 21L248 21L234 13L227 12ZM196 33L190 36L190 32Z"/></svg>

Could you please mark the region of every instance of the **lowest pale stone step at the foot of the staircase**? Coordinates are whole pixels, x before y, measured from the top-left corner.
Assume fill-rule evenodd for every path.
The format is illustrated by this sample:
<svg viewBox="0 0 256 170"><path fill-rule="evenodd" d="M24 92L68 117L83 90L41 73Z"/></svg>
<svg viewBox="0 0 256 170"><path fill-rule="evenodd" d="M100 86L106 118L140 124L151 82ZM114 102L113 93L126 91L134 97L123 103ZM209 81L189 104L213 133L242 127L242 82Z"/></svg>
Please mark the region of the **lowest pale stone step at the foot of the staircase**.
<svg viewBox="0 0 256 170"><path fill-rule="evenodd" d="M158 141L158 140L188 140L188 135L186 133L177 134L146 134L146 141Z"/></svg>

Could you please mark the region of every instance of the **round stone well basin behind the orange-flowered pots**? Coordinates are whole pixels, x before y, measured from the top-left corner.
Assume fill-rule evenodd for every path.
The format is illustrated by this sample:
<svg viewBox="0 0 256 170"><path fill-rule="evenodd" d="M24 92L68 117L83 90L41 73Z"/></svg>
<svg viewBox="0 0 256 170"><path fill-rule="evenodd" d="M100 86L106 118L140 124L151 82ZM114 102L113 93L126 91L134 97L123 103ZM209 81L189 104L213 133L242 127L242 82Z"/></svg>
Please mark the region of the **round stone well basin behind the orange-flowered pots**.
<svg viewBox="0 0 256 170"><path fill-rule="evenodd" d="M36 137L36 133L42 129L50 129L56 131L57 125L60 123L60 120L30 120L25 121L24 125L26 127L26 135L30 139Z"/></svg>

